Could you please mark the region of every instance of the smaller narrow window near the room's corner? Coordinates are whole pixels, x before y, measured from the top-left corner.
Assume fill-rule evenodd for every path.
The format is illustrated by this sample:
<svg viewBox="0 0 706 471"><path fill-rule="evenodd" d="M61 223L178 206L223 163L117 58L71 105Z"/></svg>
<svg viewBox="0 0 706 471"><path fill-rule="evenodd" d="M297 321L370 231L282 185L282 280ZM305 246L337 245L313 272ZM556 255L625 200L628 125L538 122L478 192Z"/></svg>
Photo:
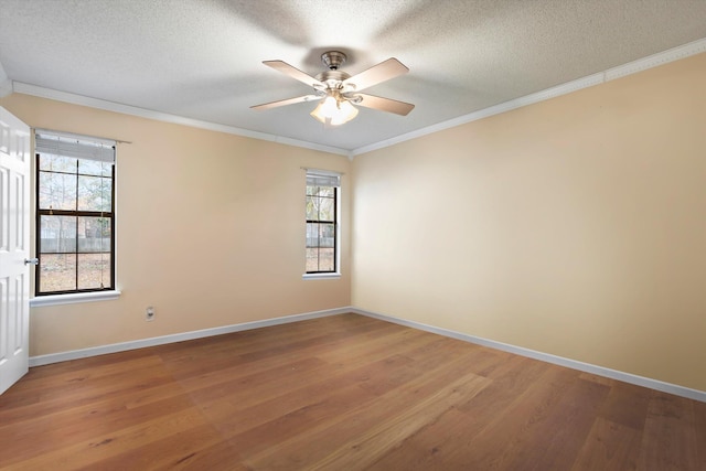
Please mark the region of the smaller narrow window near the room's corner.
<svg viewBox="0 0 706 471"><path fill-rule="evenodd" d="M307 170L307 274L338 272L340 175Z"/></svg>

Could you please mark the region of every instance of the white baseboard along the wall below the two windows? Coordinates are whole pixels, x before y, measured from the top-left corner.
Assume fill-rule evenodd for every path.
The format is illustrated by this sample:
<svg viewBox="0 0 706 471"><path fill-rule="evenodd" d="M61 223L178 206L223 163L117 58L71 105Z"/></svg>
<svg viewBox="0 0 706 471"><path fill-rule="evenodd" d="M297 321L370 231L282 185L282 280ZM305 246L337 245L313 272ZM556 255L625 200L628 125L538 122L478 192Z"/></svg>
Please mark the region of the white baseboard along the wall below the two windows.
<svg viewBox="0 0 706 471"><path fill-rule="evenodd" d="M133 340L133 341L121 342L121 343L111 343L109 345L92 346L89 349L72 350L72 351L60 352L60 353L50 353L46 355L31 356L30 367L49 365L51 363L67 362L69 360L86 358L88 356L105 355L108 353L126 352L128 350L143 349L147 346L164 345L167 343L183 342L185 340L195 340L195 339L202 339L206 336L222 335L225 333L267 328L270 325L287 324L291 322L306 321L309 319L325 318L328 315L343 314L346 312L353 312L353 309L350 307L327 309L324 311L285 315L281 318L267 319L264 321L245 322L242 324L223 325L220 328L203 329L203 330L176 333L171 335L153 336L150 339L140 339L140 340Z"/></svg>

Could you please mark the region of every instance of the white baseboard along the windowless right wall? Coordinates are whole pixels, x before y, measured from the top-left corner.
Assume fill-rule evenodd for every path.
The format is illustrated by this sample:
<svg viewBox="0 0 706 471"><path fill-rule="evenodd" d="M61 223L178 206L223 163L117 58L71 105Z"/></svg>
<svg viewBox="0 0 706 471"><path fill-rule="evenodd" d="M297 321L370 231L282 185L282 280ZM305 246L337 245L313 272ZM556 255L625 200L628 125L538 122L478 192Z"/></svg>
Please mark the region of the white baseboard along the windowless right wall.
<svg viewBox="0 0 706 471"><path fill-rule="evenodd" d="M405 319L398 319L391 315L365 311L363 309L352 308L350 311L356 314L367 315L370 318L393 322L393 323L409 327L413 329L419 329L422 331L436 333L443 336L450 336L452 339L462 340L462 341L474 343L478 345L489 346L495 350L502 350L503 352L510 352L516 355L522 355L530 358L553 363L555 365L566 366L571 370L578 370L578 371L591 373L598 376L621 381L623 383L630 383L638 386L648 387L650 389L656 389L663 393L674 394L675 396L686 397L688 399L706 403L706 392L704 390L692 389L692 388L678 386L675 384L664 383L659 379L652 379L649 377L638 376L630 373L620 372L617 370L591 365L589 363L578 362L576 360L565 358L563 356L556 356L549 353L537 352L535 350L525 349L522 346L515 346L507 343L496 342L494 340L482 339L480 336L474 336L474 335L469 335L461 332L451 331L448 329L436 328L434 325L427 325L419 322L408 321Z"/></svg>

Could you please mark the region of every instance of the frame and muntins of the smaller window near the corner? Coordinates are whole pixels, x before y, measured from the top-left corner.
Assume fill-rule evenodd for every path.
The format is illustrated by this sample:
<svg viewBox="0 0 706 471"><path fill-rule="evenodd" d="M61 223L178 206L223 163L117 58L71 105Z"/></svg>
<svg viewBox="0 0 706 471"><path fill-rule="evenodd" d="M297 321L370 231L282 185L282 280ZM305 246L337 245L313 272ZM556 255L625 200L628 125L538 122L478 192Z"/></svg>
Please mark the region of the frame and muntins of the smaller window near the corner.
<svg viewBox="0 0 706 471"><path fill-rule="evenodd" d="M333 221L329 220L310 220L307 217L304 211L304 279L307 278L339 278L341 276L341 174L327 170L307 170L307 182L304 191L304 210L309 203L309 199L312 196L309 194L310 186L317 188L331 188L333 190ZM322 181L330 181L332 184L310 184L310 179L321 179ZM322 196L317 196L322 197ZM323 196L331 197L331 196ZM309 246L309 224L332 224L333 225L333 269L332 270L311 270L307 269L307 251L310 248L322 248L319 246ZM327 248L327 247L323 247Z"/></svg>

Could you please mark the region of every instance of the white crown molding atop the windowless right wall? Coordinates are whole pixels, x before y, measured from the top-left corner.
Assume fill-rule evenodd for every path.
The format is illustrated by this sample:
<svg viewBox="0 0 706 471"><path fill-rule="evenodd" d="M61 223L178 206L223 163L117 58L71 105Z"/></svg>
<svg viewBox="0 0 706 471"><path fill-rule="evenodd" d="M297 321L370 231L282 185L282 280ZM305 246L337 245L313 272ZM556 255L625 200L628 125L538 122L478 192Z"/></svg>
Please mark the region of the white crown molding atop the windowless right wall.
<svg viewBox="0 0 706 471"><path fill-rule="evenodd" d="M639 58L628 64L619 65L613 68L609 68L603 72L599 72L592 75L588 75L576 81L567 82L561 85L557 85L552 88L547 88L542 92L537 92L531 95L502 103L500 105L491 106L469 115L460 116L448 121L439 122L426 128L418 129L413 132L397 136L392 139L379 141L370 146L363 146L351 151L351 159L355 156L372 152L374 150L384 149L389 146L394 146L400 142L405 142L411 139L416 139L422 136L427 136L434 132L438 132L445 129L454 128L457 126L464 125L467 122L477 121L479 119L488 118L501 113L512 111L513 109L522 108L527 105L544 101L547 99L556 98L561 95L578 92L584 88L592 87L595 85L605 84L606 82L614 81L628 75L637 74L638 72L646 71L648 68L657 67L660 65L668 64L670 62L686 58L692 55L706 52L706 39L694 41L657 54L650 55L648 57Z"/></svg>

